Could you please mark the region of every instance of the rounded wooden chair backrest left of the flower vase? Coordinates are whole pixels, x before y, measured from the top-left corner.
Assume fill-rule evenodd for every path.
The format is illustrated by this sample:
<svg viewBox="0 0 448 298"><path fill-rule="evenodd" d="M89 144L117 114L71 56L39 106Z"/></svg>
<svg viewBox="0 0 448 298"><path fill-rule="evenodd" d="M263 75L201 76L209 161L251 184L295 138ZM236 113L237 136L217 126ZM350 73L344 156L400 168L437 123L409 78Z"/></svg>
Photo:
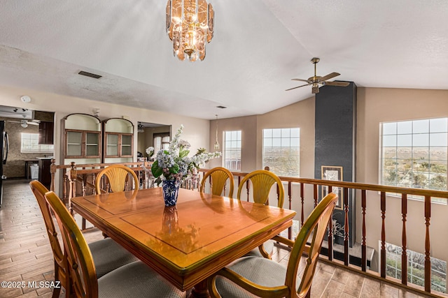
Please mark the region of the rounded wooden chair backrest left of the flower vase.
<svg viewBox="0 0 448 298"><path fill-rule="evenodd" d="M102 177L105 175L109 181L109 188L113 193L118 193L119 191L125 191L126 182L128 175L131 174L134 178L134 188L139 189L139 178L137 174L130 167L125 165L109 165L104 170L97 174L95 179L95 191L97 194L104 193L102 191ZM129 181L132 186L132 181Z"/></svg>

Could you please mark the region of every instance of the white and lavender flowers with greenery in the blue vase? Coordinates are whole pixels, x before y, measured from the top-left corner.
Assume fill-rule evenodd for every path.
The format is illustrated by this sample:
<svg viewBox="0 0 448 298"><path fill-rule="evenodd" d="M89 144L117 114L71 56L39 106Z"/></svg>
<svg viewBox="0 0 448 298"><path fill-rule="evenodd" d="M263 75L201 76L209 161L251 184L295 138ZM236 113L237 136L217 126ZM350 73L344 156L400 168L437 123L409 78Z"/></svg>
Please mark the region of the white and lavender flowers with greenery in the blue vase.
<svg viewBox="0 0 448 298"><path fill-rule="evenodd" d="M221 152L207 152L204 148L197 150L194 156L188 157L190 154L190 143L186 140L181 140L183 125L177 130L176 135L169 142L167 150L158 151L155 156L155 161L151 167L151 172L156 178L155 183L160 184L162 178L165 180L182 181L188 174L193 174L193 171L200 168L203 163L207 163L211 158L221 156ZM153 147L148 147L146 153L154 150Z"/></svg>

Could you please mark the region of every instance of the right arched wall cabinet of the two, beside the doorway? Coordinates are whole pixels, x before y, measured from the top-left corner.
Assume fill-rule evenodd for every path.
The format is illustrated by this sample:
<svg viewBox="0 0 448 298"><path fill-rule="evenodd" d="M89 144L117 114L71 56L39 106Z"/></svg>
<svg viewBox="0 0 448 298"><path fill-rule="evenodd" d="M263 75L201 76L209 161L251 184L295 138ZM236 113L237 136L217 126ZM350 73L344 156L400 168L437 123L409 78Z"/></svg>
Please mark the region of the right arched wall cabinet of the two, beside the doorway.
<svg viewBox="0 0 448 298"><path fill-rule="evenodd" d="M127 119L103 121L103 162L125 163L134 158L134 124Z"/></svg>

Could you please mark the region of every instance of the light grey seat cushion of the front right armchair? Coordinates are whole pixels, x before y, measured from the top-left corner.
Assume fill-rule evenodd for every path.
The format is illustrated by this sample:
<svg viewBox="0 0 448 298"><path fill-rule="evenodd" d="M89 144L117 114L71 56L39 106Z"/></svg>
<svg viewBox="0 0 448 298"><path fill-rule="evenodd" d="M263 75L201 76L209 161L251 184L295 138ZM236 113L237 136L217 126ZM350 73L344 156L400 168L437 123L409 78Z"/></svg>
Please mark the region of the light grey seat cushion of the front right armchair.
<svg viewBox="0 0 448 298"><path fill-rule="evenodd" d="M276 287L285 284L286 267L266 258L243 257L227 268L258 285ZM297 285L299 283L297 281ZM256 297L222 276L216 278L216 289L222 297Z"/></svg>

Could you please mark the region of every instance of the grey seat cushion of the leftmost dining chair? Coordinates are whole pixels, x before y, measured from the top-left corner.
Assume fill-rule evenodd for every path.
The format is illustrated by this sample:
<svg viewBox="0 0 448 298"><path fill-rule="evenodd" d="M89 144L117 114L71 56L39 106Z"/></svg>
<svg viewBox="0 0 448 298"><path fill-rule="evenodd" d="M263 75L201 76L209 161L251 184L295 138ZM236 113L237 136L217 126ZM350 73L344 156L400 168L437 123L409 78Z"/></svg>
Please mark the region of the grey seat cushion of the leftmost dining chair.
<svg viewBox="0 0 448 298"><path fill-rule="evenodd" d="M89 244L89 248L97 271L97 278L138 260L137 257L111 238L94 241Z"/></svg>

